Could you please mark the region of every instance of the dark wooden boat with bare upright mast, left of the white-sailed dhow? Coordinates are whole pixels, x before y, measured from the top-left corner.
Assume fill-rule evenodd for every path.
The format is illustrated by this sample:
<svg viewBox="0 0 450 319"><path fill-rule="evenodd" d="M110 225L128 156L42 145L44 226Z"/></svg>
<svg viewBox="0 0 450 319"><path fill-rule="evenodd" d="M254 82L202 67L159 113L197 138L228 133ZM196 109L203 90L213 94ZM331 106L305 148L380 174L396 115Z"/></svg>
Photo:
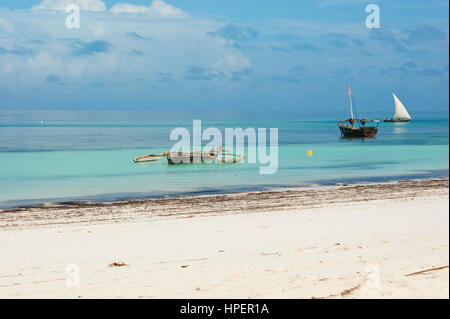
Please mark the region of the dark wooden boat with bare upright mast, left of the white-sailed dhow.
<svg viewBox="0 0 450 319"><path fill-rule="evenodd" d="M348 86L350 97L350 118L338 121L341 136L343 137L374 137L378 132L379 120L357 119L353 114L352 90Z"/></svg>

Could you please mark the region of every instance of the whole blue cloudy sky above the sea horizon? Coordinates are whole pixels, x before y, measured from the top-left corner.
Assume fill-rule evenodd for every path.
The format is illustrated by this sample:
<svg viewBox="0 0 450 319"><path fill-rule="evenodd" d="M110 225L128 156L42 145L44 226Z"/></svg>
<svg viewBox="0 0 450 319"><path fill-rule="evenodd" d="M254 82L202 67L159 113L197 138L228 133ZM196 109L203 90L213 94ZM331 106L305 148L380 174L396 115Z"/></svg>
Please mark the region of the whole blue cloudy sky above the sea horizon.
<svg viewBox="0 0 450 319"><path fill-rule="evenodd" d="M80 28L65 8L80 6ZM366 6L380 8L367 28ZM0 109L448 113L448 1L2 0Z"/></svg>

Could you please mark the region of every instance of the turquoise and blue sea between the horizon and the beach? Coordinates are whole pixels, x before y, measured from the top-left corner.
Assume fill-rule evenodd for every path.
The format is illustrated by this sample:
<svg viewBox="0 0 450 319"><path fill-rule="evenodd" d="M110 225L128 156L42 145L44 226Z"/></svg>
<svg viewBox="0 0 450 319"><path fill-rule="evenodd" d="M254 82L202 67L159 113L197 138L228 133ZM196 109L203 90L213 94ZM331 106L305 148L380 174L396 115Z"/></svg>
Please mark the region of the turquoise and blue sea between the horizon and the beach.
<svg viewBox="0 0 450 319"><path fill-rule="evenodd" d="M193 119L202 120L203 129L222 131L277 127L277 173L261 175L260 164L247 162L132 162L168 151L171 130L191 130ZM337 119L339 114L0 111L0 207L448 176L448 115L380 123L376 138L352 140L340 138Z"/></svg>

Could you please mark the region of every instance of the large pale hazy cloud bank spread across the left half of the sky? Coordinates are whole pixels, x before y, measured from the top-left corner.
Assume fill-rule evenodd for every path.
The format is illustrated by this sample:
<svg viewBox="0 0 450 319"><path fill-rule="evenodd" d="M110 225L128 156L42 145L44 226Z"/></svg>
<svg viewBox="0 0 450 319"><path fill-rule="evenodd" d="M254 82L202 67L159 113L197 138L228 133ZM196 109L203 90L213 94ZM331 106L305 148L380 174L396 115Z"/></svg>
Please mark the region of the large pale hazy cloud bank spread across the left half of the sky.
<svg viewBox="0 0 450 319"><path fill-rule="evenodd" d="M8 37L0 37L0 87L9 87L14 78L13 90L58 85L60 90L75 92L93 82L134 88L136 78L145 79L136 85L167 85L157 76L164 73L172 85L190 88L212 85L186 80L192 65L220 80L250 66L238 48L208 35L221 22L172 19L188 14L159 0L141 7L144 15L139 19L131 13L118 19L110 10L85 12L76 30L66 28L64 19L55 18L50 10L0 10L0 30L10 30Z"/></svg>

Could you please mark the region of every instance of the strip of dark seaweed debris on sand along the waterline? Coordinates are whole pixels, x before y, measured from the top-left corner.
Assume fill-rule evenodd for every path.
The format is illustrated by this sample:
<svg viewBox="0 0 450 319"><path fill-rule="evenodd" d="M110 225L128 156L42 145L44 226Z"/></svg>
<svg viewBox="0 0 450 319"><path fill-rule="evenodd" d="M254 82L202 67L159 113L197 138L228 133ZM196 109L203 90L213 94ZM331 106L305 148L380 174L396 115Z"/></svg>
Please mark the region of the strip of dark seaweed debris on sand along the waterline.
<svg viewBox="0 0 450 319"><path fill-rule="evenodd" d="M333 186L308 190L282 190L180 198L140 199L112 203L67 203L55 207L0 210L0 228L29 228L61 224L98 224L148 218L256 213L308 209L332 203L405 199L448 195L449 179Z"/></svg>

